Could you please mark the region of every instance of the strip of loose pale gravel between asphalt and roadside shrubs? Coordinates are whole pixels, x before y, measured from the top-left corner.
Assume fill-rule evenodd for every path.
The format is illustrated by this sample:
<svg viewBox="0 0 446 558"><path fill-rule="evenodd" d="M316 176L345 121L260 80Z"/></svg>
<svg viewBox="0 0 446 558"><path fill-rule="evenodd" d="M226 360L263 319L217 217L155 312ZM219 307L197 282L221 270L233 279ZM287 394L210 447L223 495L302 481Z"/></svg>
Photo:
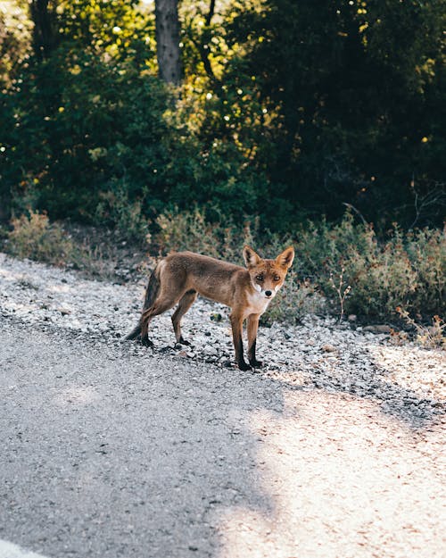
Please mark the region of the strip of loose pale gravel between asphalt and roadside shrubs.
<svg viewBox="0 0 446 558"><path fill-rule="evenodd" d="M37 262L0 254L0 309L29 325L46 324L117 343L133 329L141 311L145 281L119 285L82 279ZM156 317L149 330L162 353L233 367L234 349L226 306L198 298L182 321L192 346L176 346L172 312ZM246 346L246 339L244 341ZM393 346L388 334L337 325L333 318L307 316L302 325L275 323L260 328L258 358L264 377L288 385L344 391L367 397L415 427L444 412L445 354L406 344Z"/></svg>

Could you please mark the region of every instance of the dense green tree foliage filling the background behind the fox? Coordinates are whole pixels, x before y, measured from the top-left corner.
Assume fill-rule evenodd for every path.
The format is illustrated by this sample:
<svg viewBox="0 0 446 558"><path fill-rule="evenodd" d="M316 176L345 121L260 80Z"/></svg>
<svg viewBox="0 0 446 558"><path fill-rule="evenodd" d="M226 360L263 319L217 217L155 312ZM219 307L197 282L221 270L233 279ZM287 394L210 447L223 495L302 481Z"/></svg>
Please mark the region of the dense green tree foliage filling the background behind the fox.
<svg viewBox="0 0 446 558"><path fill-rule="evenodd" d="M156 75L153 6L50 2L43 48L12 1L0 219L32 207L142 238L197 204L285 233L350 204L380 234L442 225L442 0L185 0L178 90Z"/></svg>

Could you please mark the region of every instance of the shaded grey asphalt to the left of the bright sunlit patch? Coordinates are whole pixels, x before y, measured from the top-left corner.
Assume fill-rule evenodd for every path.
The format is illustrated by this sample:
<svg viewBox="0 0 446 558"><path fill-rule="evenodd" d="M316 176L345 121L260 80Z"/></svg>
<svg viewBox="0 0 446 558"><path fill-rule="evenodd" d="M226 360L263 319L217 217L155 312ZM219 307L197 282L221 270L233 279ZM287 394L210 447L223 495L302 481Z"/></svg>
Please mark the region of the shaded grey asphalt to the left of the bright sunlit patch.
<svg viewBox="0 0 446 558"><path fill-rule="evenodd" d="M220 510L268 513L240 419L280 412L274 382L19 321L0 347L0 539L51 557L215 556Z"/></svg>

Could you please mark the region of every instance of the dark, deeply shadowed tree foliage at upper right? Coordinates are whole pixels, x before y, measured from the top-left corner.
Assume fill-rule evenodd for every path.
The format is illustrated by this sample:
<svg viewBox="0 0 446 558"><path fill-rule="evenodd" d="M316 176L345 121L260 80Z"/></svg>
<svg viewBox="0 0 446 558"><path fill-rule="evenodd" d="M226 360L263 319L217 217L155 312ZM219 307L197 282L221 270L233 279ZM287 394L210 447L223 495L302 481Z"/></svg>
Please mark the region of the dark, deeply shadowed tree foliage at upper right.
<svg viewBox="0 0 446 558"><path fill-rule="evenodd" d="M380 227L441 223L442 0L265 0L235 12L225 83L252 78L268 111L256 162L293 211L333 218L350 203Z"/></svg>

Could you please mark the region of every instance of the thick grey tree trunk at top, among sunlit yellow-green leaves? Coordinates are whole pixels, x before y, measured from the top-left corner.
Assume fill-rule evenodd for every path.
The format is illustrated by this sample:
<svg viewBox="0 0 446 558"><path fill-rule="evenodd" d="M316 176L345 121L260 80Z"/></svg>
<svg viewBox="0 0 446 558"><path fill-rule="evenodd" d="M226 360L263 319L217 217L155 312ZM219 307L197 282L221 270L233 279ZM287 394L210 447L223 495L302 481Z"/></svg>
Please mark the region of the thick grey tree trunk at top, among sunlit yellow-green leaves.
<svg viewBox="0 0 446 558"><path fill-rule="evenodd" d="M168 83L181 82L179 52L178 0L156 0L156 51L160 78Z"/></svg>

